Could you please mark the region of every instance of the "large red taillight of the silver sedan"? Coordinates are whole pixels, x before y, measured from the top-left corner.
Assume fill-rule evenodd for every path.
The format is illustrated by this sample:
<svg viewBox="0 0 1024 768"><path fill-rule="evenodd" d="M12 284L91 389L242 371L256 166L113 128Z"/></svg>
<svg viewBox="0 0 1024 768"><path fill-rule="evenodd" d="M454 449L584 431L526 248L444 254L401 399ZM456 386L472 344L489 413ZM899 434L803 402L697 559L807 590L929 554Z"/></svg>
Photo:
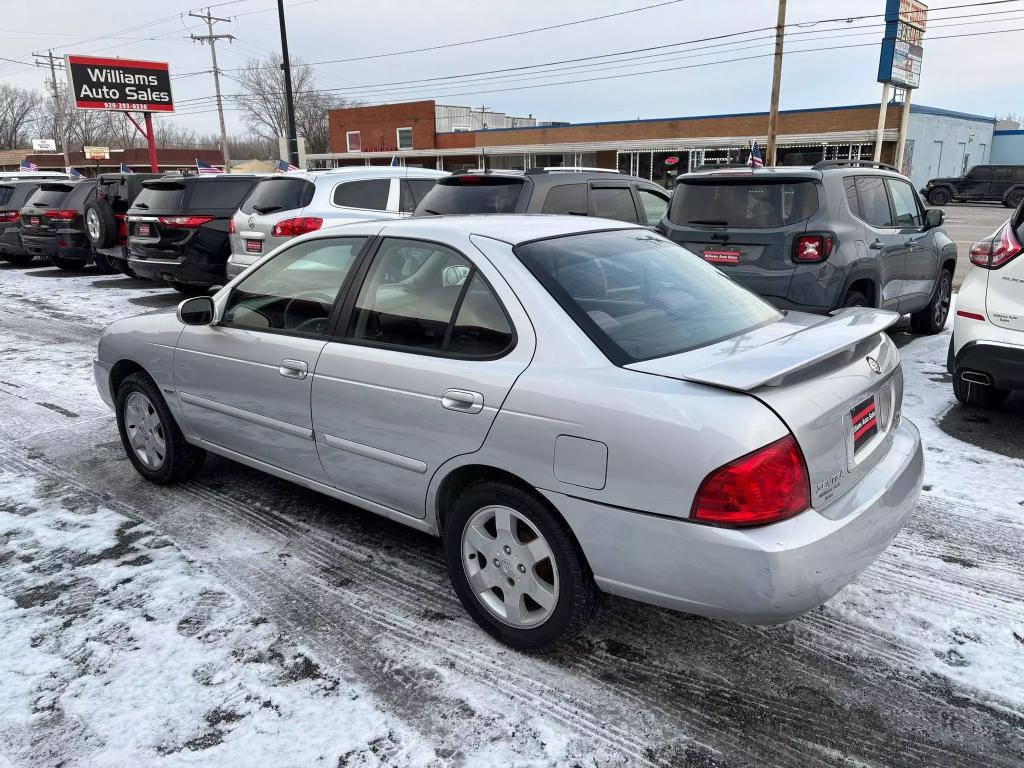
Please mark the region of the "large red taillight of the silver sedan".
<svg viewBox="0 0 1024 768"><path fill-rule="evenodd" d="M810 506L807 465L791 434L708 475L693 500L690 518L734 527L764 525Z"/></svg>

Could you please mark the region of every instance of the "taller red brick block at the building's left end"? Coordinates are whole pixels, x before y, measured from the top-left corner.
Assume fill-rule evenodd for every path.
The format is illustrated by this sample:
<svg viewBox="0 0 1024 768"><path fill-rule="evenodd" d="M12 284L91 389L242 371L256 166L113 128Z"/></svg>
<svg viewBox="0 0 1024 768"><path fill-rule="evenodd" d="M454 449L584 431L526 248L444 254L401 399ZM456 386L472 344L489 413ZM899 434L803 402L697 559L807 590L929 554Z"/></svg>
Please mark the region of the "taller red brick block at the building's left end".
<svg viewBox="0 0 1024 768"><path fill-rule="evenodd" d="M332 110L330 124L331 152L348 152L345 143L347 131L359 131L364 152L396 150L398 128L413 129L414 150L434 148L432 100Z"/></svg>

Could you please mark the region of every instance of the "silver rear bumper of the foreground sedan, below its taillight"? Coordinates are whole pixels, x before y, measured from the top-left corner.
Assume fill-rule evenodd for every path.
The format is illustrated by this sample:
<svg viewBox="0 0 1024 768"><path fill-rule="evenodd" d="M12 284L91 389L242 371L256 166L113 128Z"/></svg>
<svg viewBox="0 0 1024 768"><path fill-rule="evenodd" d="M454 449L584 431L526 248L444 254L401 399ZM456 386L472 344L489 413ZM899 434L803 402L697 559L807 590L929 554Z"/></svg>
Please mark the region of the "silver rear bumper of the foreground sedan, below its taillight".
<svg viewBox="0 0 1024 768"><path fill-rule="evenodd" d="M597 585L615 595L743 624L820 605L889 546L914 509L925 463L903 420L888 455L826 510L729 529L545 492L577 536Z"/></svg>

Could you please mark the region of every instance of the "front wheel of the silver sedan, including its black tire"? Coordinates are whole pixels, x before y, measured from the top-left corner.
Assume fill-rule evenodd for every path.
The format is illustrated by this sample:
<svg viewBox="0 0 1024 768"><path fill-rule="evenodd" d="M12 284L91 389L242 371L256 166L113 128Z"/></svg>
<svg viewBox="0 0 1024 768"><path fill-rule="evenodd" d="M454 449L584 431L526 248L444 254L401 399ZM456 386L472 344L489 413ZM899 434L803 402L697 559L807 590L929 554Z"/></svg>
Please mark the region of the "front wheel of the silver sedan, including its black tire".
<svg viewBox="0 0 1024 768"><path fill-rule="evenodd" d="M166 485L188 479L203 466L206 452L185 441L148 376L127 376L118 387L115 404L121 443L142 477Z"/></svg>

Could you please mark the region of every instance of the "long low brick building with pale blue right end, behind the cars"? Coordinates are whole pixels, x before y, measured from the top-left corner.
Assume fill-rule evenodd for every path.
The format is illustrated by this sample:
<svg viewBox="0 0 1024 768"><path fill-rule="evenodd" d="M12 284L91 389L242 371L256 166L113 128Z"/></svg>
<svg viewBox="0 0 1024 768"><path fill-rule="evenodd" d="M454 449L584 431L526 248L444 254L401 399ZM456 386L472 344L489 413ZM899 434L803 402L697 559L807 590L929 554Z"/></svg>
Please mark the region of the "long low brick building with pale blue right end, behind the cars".
<svg viewBox="0 0 1024 768"><path fill-rule="evenodd" d="M395 160L455 171L480 167L485 158L488 168L617 168L666 183L677 169L742 162L752 139L764 151L768 133L768 113L573 124L508 118L529 122L439 130L451 127L451 121L439 118L442 110L450 109L426 100L332 111L331 152L309 160L323 167L387 165ZM895 157L902 110L902 104L894 103L887 112L883 161ZM779 113L777 162L869 160L878 120L879 104L784 110ZM904 173L924 183L932 176L987 162L993 127L992 118L911 105Z"/></svg>

